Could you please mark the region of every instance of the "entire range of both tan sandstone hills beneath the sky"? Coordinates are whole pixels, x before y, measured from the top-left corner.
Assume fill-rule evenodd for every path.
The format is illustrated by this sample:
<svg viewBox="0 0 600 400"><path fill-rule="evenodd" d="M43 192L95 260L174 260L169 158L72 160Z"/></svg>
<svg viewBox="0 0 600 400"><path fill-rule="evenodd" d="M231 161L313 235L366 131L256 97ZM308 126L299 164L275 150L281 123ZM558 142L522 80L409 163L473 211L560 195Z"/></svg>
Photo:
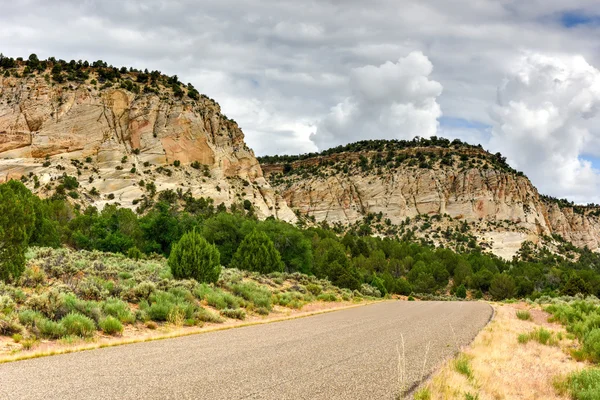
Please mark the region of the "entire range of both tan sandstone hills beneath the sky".
<svg viewBox="0 0 600 400"><path fill-rule="evenodd" d="M0 182L10 179L81 210L144 214L203 198L261 219L507 259L526 241L600 248L596 206L540 195L481 146L374 140L259 164L237 123L193 85L103 61L0 56Z"/></svg>

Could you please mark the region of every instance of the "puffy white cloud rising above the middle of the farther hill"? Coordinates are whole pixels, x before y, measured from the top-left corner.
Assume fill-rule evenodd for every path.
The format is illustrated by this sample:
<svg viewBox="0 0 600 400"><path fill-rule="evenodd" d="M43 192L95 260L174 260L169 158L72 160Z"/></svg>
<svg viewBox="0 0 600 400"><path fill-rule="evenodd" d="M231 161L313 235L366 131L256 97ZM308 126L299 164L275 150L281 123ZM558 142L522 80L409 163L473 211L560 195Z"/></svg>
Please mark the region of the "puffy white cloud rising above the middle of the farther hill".
<svg viewBox="0 0 600 400"><path fill-rule="evenodd" d="M419 51L398 62L355 68L352 95L331 108L311 135L319 149L363 139L409 139L436 134L442 85L430 79L433 65Z"/></svg>

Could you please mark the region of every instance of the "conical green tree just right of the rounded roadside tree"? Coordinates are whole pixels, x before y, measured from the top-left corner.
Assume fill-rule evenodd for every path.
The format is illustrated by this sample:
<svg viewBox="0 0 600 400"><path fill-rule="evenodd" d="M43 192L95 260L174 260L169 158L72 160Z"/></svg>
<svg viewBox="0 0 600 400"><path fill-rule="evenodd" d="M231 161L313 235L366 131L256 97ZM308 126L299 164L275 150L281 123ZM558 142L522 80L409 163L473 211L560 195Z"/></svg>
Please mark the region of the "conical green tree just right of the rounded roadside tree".
<svg viewBox="0 0 600 400"><path fill-rule="evenodd" d="M261 274L283 272L281 255L266 233L254 230L250 232L231 260L231 266L238 269L256 271Z"/></svg>

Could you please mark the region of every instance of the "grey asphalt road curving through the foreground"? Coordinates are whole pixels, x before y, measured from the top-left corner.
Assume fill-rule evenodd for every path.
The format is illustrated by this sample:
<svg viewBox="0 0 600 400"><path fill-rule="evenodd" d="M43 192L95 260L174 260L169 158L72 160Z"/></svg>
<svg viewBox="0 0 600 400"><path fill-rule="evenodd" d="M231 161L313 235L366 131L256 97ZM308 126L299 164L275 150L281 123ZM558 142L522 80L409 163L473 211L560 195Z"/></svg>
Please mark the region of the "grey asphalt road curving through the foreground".
<svg viewBox="0 0 600 400"><path fill-rule="evenodd" d="M18 361L0 365L0 399L393 399L399 371L414 385L491 313L485 303L390 301Z"/></svg>

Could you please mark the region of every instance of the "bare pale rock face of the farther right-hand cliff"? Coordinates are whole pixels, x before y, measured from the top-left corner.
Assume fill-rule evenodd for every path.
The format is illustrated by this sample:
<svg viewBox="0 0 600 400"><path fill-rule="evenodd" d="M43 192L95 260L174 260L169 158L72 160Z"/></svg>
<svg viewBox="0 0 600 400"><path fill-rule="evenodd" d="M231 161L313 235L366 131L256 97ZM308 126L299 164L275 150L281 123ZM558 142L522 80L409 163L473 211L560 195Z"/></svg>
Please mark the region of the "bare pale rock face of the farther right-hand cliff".
<svg viewBox="0 0 600 400"><path fill-rule="evenodd" d="M446 151L434 150L441 156ZM410 159L416 152L428 151L432 149L404 153ZM468 155L477 153L487 154L471 150ZM403 163L379 173L377 168L365 172L357 168L361 156L372 160L381 154L341 153L305 159L289 164L291 172L287 174L281 164L263 165L263 170L289 207L317 222L348 226L381 213L382 220L401 224L407 217L446 215L468 222L480 241L506 258L512 257L523 241L537 242L554 233L579 247L600 247L600 220L594 210L576 212L573 207L547 202L525 176L483 161L477 167L459 167L459 155L453 156L452 166L438 162L431 168L419 168ZM315 166L318 173L307 173Z"/></svg>

